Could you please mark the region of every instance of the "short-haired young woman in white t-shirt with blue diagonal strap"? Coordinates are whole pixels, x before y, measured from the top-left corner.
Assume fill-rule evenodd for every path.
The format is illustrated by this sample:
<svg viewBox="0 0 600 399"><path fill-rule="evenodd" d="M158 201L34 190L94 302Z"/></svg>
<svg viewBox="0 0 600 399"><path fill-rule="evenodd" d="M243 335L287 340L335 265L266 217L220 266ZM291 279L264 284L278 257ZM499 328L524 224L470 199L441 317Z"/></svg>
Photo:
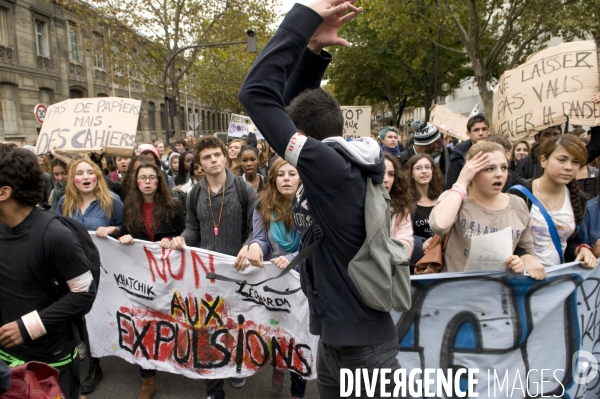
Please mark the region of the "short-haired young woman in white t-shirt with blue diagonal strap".
<svg viewBox="0 0 600 399"><path fill-rule="evenodd" d="M527 203L531 215L531 235L535 257L544 266L565 262L581 262L583 267L594 268L597 264L593 249L577 242L576 227L585 212L585 196L579 190L575 176L587 161L587 150L582 141L572 135L561 135L544 141L539 150L543 174L538 179L523 182L544 207L554 223L560 239L560 251L555 247L550 228L540 208L521 192L511 189Z"/></svg>

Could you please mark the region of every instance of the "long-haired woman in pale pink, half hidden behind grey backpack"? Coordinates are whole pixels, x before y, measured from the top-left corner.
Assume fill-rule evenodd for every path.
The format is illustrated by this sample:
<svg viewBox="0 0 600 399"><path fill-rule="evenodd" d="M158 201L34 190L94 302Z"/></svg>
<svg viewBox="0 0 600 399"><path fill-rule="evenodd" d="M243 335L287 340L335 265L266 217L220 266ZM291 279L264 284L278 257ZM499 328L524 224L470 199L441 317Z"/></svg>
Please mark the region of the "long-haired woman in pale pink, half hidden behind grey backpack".
<svg viewBox="0 0 600 399"><path fill-rule="evenodd" d="M397 158L388 152L385 156L385 174L383 186L390 195L390 214L392 231L390 236L406 246L406 255L410 258L414 248L410 212L413 206L412 192L407 190L406 176Z"/></svg>

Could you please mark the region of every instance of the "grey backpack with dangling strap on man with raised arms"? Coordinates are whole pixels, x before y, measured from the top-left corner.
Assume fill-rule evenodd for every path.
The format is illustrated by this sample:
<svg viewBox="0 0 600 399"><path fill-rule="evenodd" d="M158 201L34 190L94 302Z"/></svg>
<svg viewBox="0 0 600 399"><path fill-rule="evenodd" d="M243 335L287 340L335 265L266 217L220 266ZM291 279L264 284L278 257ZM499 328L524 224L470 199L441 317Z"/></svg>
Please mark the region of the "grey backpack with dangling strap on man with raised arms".
<svg viewBox="0 0 600 399"><path fill-rule="evenodd" d="M348 261L337 247L323 234L318 223L314 223L317 240L300 252L278 275L258 283L231 279L215 273L207 273L206 278L232 283L245 283L255 287L282 277L324 242L337 260L343 264L354 285L358 289L367 306L382 312L392 308L406 311L411 306L410 265L404 244L390 237L390 196L383 184L375 184L370 177L366 178L365 193L365 229L366 237L362 246ZM277 291L269 286L264 291L279 295L291 295L300 288L289 291Z"/></svg>

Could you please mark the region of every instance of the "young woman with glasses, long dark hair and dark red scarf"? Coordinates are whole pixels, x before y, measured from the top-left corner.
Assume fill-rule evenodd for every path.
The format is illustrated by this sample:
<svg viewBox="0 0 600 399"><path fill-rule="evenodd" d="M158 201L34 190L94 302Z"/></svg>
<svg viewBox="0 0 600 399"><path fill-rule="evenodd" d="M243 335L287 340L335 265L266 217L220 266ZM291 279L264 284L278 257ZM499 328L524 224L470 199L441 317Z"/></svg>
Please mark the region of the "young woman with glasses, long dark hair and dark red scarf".
<svg viewBox="0 0 600 399"><path fill-rule="evenodd" d="M154 162L142 162L128 181L127 200L123 214L121 244L133 245L133 240L170 241L185 228L185 215L179 201L171 196L162 169ZM140 367L142 390L139 398L150 399L156 389L156 371Z"/></svg>

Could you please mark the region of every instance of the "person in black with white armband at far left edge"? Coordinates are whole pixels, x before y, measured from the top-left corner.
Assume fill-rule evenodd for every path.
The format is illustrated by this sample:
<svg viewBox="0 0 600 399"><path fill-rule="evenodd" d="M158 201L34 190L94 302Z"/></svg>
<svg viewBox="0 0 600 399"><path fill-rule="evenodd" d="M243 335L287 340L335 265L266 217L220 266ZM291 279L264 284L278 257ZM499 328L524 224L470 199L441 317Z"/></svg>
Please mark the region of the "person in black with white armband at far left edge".
<svg viewBox="0 0 600 399"><path fill-rule="evenodd" d="M43 190L43 172L33 153L0 152L0 359L54 365L65 397L78 398L79 336L71 320L93 303L96 286L79 239L56 219L40 250L69 291L59 300L50 296L27 266L35 217L50 212L35 206Z"/></svg>

